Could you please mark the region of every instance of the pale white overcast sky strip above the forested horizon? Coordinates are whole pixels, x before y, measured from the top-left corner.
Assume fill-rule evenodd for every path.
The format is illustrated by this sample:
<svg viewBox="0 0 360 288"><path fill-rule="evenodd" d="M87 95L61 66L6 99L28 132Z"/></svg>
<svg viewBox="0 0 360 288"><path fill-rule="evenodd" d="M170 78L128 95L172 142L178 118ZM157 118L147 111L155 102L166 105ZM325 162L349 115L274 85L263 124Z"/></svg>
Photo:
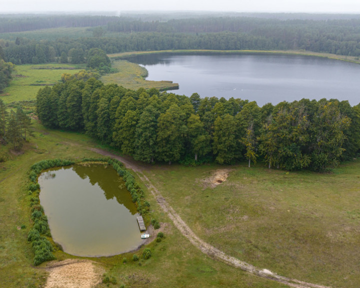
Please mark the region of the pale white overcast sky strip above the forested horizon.
<svg viewBox="0 0 360 288"><path fill-rule="evenodd" d="M133 10L360 13L360 0L0 0L0 13Z"/></svg>

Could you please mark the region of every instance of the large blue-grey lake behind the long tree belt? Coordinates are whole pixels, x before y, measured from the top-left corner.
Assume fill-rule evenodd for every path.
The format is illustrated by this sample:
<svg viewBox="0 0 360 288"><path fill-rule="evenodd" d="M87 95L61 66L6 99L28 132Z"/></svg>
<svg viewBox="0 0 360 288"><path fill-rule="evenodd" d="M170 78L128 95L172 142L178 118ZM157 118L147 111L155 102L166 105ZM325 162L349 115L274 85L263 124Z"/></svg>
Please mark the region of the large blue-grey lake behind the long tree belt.
<svg viewBox="0 0 360 288"><path fill-rule="evenodd" d="M176 94L267 102L301 98L360 102L360 65L313 56L152 54L129 58L148 70L148 80L179 84Z"/></svg>

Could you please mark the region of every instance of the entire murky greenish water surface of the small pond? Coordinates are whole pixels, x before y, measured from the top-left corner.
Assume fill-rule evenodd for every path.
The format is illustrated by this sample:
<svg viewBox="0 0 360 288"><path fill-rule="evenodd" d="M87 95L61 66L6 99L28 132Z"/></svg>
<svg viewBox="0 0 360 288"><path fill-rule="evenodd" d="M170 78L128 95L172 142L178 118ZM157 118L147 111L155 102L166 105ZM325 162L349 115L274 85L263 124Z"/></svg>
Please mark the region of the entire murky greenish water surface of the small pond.
<svg viewBox="0 0 360 288"><path fill-rule="evenodd" d="M38 182L52 238L65 252L106 256L135 249L143 241L136 207L113 168L53 168L43 172Z"/></svg>

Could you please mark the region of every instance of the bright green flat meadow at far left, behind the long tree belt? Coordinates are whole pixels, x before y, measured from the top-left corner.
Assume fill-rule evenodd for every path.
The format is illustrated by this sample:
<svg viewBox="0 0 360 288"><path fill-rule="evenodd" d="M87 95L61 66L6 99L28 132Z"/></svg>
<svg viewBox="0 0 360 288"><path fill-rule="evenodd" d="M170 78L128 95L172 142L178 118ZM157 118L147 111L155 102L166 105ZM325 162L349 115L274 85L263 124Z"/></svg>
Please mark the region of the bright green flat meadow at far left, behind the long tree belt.
<svg viewBox="0 0 360 288"><path fill-rule="evenodd" d="M58 83L63 73L74 74L84 68L84 65L59 63L17 65L10 85L0 93L0 98L5 103L35 100L39 88Z"/></svg>

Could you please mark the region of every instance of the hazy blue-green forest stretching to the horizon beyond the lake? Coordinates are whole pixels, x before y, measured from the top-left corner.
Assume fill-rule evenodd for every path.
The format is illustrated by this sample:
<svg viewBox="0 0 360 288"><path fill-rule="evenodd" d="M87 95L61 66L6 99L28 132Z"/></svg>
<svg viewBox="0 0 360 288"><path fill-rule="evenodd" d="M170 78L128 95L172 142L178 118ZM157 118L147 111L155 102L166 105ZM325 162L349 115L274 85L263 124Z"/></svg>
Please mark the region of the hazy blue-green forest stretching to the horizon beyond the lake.
<svg viewBox="0 0 360 288"><path fill-rule="evenodd" d="M286 15L286 14L285 14ZM163 49L288 50L301 49L360 56L360 18L333 16L302 19L250 16L201 16L166 20L137 17L32 15L0 18L0 32L58 27L87 27L90 36L37 40L31 33L0 39L5 61L14 64L59 60L85 61L91 48L106 53ZM281 14L280 14L281 16ZM299 15L301 16L301 14ZM21 34L23 35L23 34ZM1 37L1 35L0 35ZM75 55L75 56L74 56Z"/></svg>

